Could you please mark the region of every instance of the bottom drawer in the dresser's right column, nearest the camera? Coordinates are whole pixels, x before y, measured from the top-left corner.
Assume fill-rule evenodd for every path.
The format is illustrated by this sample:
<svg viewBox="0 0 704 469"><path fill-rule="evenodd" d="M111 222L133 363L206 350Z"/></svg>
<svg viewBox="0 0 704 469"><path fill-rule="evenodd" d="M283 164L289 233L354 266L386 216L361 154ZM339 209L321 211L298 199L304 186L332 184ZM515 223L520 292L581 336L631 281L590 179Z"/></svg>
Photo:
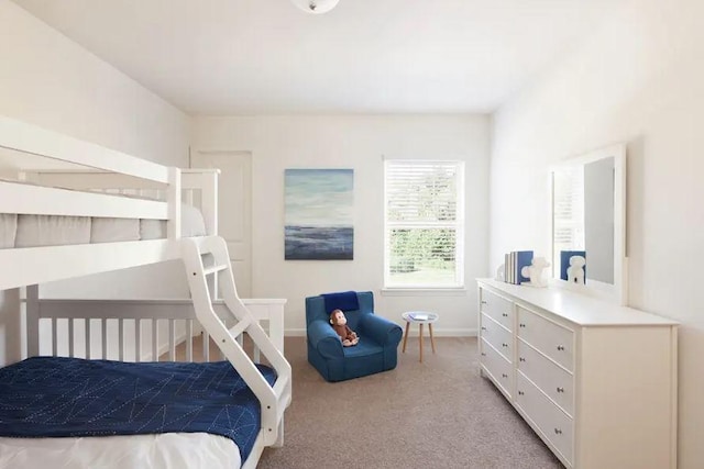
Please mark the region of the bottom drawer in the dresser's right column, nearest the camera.
<svg viewBox="0 0 704 469"><path fill-rule="evenodd" d="M516 405L572 465L573 421L520 371L516 373Z"/></svg>

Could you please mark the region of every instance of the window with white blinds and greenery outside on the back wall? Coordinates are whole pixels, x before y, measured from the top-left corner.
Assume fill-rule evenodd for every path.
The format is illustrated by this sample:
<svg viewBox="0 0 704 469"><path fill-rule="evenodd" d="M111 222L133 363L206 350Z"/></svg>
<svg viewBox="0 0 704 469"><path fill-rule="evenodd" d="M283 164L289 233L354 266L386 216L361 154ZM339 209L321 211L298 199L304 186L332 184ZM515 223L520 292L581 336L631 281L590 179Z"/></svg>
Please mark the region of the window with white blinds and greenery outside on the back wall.
<svg viewBox="0 0 704 469"><path fill-rule="evenodd" d="M384 161L385 288L464 287L464 164Z"/></svg>

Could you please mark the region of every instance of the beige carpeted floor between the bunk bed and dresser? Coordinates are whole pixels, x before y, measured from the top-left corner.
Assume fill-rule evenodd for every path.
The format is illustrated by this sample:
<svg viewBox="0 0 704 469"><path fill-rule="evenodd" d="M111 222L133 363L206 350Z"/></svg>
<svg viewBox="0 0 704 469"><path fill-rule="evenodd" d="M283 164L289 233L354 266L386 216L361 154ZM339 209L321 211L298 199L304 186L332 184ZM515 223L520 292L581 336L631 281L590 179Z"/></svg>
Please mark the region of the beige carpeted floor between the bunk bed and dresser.
<svg viewBox="0 0 704 469"><path fill-rule="evenodd" d="M426 338L427 340L427 338ZM477 371L476 338L409 338L395 370L338 383L287 337L294 376L282 448L261 469L550 469L559 460Z"/></svg>

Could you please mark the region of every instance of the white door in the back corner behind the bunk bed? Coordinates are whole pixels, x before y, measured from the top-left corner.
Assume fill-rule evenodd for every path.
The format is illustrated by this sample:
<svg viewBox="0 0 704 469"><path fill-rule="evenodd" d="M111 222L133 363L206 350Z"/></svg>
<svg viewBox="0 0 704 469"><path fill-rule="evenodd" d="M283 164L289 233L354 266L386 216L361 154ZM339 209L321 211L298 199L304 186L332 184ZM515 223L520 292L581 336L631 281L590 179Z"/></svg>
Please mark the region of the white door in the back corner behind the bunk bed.
<svg viewBox="0 0 704 469"><path fill-rule="evenodd" d="M191 168L218 168L218 234L228 242L240 298L252 295L252 154L190 150Z"/></svg>

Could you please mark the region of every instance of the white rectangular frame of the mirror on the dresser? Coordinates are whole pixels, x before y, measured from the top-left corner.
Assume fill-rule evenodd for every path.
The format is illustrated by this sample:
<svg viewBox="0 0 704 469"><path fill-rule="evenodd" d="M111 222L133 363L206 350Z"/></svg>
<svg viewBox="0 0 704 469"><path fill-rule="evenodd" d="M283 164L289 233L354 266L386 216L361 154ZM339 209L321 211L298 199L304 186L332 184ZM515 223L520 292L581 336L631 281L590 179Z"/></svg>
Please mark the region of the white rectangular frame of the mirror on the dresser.
<svg viewBox="0 0 704 469"><path fill-rule="evenodd" d="M598 297L619 305L628 304L628 255L626 245L626 144L598 148L576 157L565 159L550 169L550 247L554 257L554 174L560 168L585 165L600 159L614 158L614 283L587 279L585 284L570 283L556 278L556 263L552 258L551 283L584 294ZM587 257L588 258L588 257Z"/></svg>

